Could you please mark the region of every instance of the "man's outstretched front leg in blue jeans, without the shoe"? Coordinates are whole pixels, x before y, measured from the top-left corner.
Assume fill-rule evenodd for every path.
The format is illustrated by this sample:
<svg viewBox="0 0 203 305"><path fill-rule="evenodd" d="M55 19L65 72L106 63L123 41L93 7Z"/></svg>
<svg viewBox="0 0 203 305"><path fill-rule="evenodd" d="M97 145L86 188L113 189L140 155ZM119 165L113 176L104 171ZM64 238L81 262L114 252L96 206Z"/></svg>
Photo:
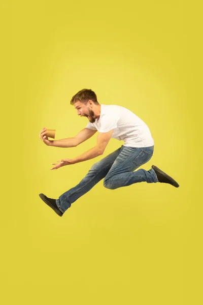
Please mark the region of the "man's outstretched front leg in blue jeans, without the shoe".
<svg viewBox="0 0 203 305"><path fill-rule="evenodd" d="M75 202L79 197L91 190L93 186L95 186L101 179L103 179L107 175L112 164L118 157L121 147L115 150L107 157L93 164L86 176L80 181L80 183L76 187L63 193L58 199L56 199L56 204L62 213L64 213L64 211L66 211L66 209L68 209L73 202Z"/></svg>

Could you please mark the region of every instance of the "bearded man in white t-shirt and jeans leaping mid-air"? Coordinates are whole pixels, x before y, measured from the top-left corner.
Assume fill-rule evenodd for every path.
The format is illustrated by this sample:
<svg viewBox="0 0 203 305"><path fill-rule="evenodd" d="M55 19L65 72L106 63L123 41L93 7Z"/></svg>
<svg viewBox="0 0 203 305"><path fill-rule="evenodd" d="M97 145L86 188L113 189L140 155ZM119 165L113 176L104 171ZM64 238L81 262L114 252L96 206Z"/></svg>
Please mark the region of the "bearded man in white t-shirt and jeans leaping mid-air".
<svg viewBox="0 0 203 305"><path fill-rule="evenodd" d="M58 199L44 194L40 198L50 206L57 215L64 212L82 195L87 193L104 179L104 187L115 190L145 181L147 183L162 182L178 188L178 183L158 167L152 165L150 170L137 168L148 162L153 155L154 141L144 121L130 110L117 105L99 104L96 94L91 89L82 89L71 99L77 114L86 116L88 124L75 137L61 140L49 140L46 128L40 131L40 139L48 146L76 147L92 137L97 131L96 145L74 159L62 159L53 163L51 168L71 165L93 159L104 154L111 138L122 140L124 144L107 157L94 163L86 176L77 186L66 191Z"/></svg>

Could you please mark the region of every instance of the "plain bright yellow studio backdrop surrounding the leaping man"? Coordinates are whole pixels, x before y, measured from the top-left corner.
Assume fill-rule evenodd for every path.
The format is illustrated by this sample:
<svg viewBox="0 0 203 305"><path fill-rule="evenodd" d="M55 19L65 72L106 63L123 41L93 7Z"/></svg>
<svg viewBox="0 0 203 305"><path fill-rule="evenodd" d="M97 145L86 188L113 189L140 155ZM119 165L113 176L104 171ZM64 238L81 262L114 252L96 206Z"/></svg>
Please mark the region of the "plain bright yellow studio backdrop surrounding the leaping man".
<svg viewBox="0 0 203 305"><path fill-rule="evenodd" d="M3 304L200 304L202 199L199 9L184 1L13 1L6 54ZM199 73L199 74L198 74ZM62 218L58 198L102 157L50 171L95 145L48 147L87 123L70 100L91 88L149 126L155 164L180 184L108 190L100 181ZM2 143L2 144L4 144ZM123 142L112 139L104 156ZM8 146L9 145L9 146ZM104 157L103 156L103 157Z"/></svg>

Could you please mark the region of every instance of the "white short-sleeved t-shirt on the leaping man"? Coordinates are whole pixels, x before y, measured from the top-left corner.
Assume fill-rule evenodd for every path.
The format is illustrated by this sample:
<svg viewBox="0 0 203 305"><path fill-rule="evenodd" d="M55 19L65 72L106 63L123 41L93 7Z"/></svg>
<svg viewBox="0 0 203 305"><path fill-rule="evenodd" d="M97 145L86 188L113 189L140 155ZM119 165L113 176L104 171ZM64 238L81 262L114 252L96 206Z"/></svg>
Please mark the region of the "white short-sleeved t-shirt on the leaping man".
<svg viewBox="0 0 203 305"><path fill-rule="evenodd" d="M100 105L100 117L86 128L98 132L114 129L112 137L124 141L124 146L149 147L154 145L151 132L144 121L130 110L117 105Z"/></svg>

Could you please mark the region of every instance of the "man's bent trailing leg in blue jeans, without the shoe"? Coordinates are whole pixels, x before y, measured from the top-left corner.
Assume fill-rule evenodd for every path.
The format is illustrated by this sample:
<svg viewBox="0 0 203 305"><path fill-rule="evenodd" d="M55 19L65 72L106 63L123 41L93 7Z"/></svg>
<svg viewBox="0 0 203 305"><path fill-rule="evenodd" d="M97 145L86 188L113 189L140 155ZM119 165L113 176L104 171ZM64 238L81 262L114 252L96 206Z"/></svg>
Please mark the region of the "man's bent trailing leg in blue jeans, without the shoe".
<svg viewBox="0 0 203 305"><path fill-rule="evenodd" d="M152 168L148 171L145 169L134 171L152 158L153 150L154 146L122 146L120 154L104 179L104 186L114 190L142 181L147 183L158 182L156 173Z"/></svg>

